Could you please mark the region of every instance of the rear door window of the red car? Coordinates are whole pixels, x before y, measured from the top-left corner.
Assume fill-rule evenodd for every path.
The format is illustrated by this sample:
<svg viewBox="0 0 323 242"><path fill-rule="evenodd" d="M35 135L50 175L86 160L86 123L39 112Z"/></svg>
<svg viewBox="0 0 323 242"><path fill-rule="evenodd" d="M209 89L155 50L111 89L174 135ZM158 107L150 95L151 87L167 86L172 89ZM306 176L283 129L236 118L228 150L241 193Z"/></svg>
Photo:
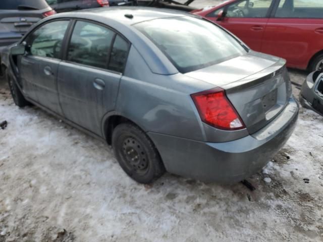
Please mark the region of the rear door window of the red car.
<svg viewBox="0 0 323 242"><path fill-rule="evenodd" d="M318 0L281 0L276 18L323 18L323 1Z"/></svg>

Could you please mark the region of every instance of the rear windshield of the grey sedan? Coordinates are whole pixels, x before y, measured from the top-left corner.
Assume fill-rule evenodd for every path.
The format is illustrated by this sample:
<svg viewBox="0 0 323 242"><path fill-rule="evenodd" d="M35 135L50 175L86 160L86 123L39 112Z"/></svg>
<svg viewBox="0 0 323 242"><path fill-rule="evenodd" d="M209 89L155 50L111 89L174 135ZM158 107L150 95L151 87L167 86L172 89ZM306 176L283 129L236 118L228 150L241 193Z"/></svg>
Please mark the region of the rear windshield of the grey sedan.
<svg viewBox="0 0 323 242"><path fill-rule="evenodd" d="M246 53L246 49L218 26L194 17L155 19L134 25L181 73L215 65Z"/></svg>

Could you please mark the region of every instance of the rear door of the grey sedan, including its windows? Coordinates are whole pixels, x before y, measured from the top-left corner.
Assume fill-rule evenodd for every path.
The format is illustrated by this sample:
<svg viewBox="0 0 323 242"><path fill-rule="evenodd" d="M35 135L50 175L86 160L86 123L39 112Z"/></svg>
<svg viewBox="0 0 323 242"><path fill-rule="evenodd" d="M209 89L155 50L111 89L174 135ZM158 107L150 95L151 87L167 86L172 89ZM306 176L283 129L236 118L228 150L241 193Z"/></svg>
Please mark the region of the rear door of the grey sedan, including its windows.
<svg viewBox="0 0 323 242"><path fill-rule="evenodd" d="M103 115L115 108L129 43L112 29L75 22L59 67L60 102L67 119L101 135Z"/></svg>

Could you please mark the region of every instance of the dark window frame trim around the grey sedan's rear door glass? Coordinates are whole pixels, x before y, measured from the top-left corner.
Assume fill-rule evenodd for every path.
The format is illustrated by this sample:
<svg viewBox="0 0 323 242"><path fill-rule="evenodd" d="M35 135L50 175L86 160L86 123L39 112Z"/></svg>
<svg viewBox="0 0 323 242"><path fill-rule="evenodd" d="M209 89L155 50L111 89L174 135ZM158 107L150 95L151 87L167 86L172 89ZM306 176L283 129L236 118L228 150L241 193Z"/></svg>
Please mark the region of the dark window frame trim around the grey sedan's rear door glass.
<svg viewBox="0 0 323 242"><path fill-rule="evenodd" d="M70 20L71 20L72 24L70 26L69 31L67 31L67 38L66 38L66 42L64 43L64 48L63 48L63 45L62 45L62 49L64 49L64 56L62 56L63 57L62 61L66 62L66 63L69 63L69 64L80 65L80 66L89 67L89 68L95 68L97 70L108 71L108 72L112 72L112 73L115 73L115 74L123 75L124 72L125 72L126 66L127 66L127 62L128 62L128 56L129 56L129 52L130 52L130 48L131 48L131 42L123 34L121 34L118 30L116 30L116 29L114 29L114 28L112 28L112 27L110 27L108 25L105 25L103 23L93 21L93 20L88 20L88 19L82 19L82 18L70 18ZM68 49L69 49L69 46L70 46L70 43L71 43L71 38L72 38L74 28L75 28L75 25L76 25L77 21L96 24L96 25L102 26L104 28L110 29L111 31L114 32L114 36L113 36L112 41L111 41L111 46L109 48L109 52L108 52L108 55L107 55L108 58L107 58L107 62L105 64L105 68L99 68L99 67L89 66L89 65L85 65L85 64L76 63L76 62L71 62L71 61L69 61L67 59ZM109 69L109 63L110 63L110 59L111 59L111 52L112 52L112 48L113 48L113 45L115 43L117 35L119 35L121 38L123 38L128 43L128 51L127 51L126 63L124 65L124 67L123 67L122 72L116 72L114 70Z"/></svg>

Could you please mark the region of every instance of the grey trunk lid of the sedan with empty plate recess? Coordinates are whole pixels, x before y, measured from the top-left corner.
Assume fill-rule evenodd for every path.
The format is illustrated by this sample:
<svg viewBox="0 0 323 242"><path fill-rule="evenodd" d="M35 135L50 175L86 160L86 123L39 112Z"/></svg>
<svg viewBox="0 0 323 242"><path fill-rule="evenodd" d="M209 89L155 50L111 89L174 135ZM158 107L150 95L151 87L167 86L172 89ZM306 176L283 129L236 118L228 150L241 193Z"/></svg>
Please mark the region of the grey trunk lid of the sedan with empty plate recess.
<svg viewBox="0 0 323 242"><path fill-rule="evenodd" d="M224 89L249 134L253 134L288 103L292 89L285 63L281 58L250 51L185 75Z"/></svg>

